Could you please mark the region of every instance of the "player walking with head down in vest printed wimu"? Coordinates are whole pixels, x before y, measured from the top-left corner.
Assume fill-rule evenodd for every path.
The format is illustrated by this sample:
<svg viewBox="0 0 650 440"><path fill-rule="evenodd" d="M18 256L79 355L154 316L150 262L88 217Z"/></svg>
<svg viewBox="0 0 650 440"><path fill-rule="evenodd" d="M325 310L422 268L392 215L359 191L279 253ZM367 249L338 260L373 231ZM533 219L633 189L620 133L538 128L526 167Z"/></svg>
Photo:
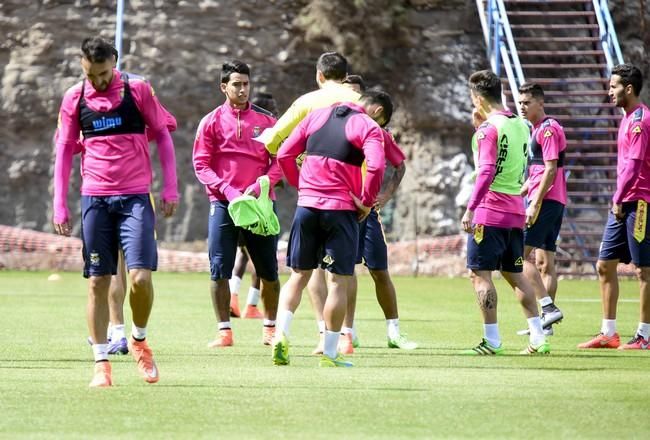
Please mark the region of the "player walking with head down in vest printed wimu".
<svg viewBox="0 0 650 440"><path fill-rule="evenodd" d="M161 209L165 216L172 215L178 206L174 146L166 129L165 111L152 87L142 78L115 69L113 46L98 37L87 38L81 52L85 79L66 91L59 111L54 229L70 235L67 192L72 156L81 131L84 276L89 278L87 321L95 357L90 386L112 385L106 338L108 290L111 275L117 270L120 246L131 281L130 350L144 380L154 383L159 380L159 371L146 337L157 249L145 127L149 127L158 145L164 178Z"/></svg>

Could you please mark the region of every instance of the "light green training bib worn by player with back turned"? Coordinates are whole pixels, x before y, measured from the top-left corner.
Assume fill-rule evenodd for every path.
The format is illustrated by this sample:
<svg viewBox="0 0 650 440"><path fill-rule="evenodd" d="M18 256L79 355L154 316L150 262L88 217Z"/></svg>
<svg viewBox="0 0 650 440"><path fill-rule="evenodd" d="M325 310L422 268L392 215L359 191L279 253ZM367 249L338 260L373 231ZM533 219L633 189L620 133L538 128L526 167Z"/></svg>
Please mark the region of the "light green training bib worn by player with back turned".
<svg viewBox="0 0 650 440"><path fill-rule="evenodd" d="M524 172L528 161L528 139L530 129L519 116L497 114L490 116L487 123L497 129L497 172L490 184L490 191L503 194L519 194L524 183ZM478 132L477 132L478 133ZM472 136L474 166L478 170L477 133Z"/></svg>

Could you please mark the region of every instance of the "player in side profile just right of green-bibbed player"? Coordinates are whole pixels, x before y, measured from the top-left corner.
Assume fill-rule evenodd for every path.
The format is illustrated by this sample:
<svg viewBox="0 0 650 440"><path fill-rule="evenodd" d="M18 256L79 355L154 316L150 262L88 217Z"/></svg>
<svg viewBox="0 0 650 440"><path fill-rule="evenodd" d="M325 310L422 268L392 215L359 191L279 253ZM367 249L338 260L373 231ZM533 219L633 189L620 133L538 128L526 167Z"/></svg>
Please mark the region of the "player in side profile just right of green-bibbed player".
<svg viewBox="0 0 650 440"><path fill-rule="evenodd" d="M542 307L544 334L552 335L552 325L563 318L554 304L557 292L555 272L556 241L567 201L564 129L544 112L544 90L539 84L519 88L519 110L533 126L529 146L528 180L522 195L528 195L524 230L524 275L535 289ZM535 265L528 256L535 250ZM538 269L539 268L539 269ZM541 274L541 277L540 277ZM528 334L528 329L519 332Z"/></svg>

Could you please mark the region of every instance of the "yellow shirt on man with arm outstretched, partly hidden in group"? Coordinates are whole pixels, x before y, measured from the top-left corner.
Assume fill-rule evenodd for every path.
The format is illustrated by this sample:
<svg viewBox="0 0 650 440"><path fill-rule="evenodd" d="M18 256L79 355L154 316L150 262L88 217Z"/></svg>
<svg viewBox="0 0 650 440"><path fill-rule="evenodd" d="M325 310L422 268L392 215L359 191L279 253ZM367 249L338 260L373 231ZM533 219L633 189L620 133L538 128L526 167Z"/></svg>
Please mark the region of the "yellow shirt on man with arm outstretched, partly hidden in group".
<svg viewBox="0 0 650 440"><path fill-rule="evenodd" d="M272 137L267 141L266 149L271 154L277 154L280 144L312 110L329 107L338 102L356 102L360 97L361 95L345 84L333 81L328 81L322 88L302 95L271 128Z"/></svg>

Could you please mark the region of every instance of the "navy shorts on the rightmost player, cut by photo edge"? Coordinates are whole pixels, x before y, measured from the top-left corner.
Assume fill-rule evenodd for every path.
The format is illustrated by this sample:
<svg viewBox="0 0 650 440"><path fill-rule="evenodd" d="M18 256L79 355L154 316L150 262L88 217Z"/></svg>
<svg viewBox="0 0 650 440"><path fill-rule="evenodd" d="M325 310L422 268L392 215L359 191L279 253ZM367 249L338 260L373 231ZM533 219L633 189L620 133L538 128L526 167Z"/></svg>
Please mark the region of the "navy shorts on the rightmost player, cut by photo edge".
<svg viewBox="0 0 650 440"><path fill-rule="evenodd" d="M650 240L648 239L648 222L640 222L641 241L634 237L634 223L637 218L637 202L623 203L625 217L616 220L611 212L600 243L599 260L621 260L622 263L634 263L637 267L650 267ZM647 213L646 213L647 215Z"/></svg>

